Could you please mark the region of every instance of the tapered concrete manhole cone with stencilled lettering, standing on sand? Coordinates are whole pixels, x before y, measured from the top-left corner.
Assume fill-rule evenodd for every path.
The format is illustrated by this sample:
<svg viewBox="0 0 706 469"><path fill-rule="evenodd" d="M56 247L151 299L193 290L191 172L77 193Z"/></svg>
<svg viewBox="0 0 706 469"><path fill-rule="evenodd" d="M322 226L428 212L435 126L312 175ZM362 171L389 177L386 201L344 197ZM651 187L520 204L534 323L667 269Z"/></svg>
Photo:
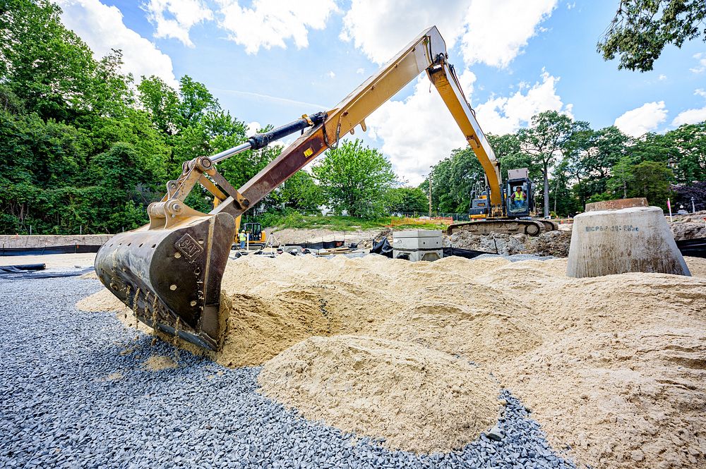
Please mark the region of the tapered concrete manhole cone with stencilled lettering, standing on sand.
<svg viewBox="0 0 706 469"><path fill-rule="evenodd" d="M574 217L566 275L626 272L691 275L662 209L644 198L587 204Z"/></svg>

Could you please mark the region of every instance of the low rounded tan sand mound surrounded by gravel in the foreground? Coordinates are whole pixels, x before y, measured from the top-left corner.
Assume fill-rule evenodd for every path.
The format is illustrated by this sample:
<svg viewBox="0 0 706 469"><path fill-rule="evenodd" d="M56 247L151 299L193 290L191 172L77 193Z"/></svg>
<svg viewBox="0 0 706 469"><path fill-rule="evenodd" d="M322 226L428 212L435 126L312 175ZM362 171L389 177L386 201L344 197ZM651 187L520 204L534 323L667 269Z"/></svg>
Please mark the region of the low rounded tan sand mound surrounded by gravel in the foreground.
<svg viewBox="0 0 706 469"><path fill-rule="evenodd" d="M498 418L498 384L467 360L364 336L312 337L265 364L266 395L389 449L448 452Z"/></svg>

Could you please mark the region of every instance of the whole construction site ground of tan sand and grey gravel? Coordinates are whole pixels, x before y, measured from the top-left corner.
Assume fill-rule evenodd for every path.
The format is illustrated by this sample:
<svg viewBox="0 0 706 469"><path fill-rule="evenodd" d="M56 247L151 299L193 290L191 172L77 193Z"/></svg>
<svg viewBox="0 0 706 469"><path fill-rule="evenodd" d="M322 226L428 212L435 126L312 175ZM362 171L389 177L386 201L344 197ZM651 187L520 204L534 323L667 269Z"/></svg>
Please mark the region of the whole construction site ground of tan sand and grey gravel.
<svg viewBox="0 0 706 469"><path fill-rule="evenodd" d="M249 255L207 356L95 275L3 281L0 467L702 468L706 260L687 262Z"/></svg>

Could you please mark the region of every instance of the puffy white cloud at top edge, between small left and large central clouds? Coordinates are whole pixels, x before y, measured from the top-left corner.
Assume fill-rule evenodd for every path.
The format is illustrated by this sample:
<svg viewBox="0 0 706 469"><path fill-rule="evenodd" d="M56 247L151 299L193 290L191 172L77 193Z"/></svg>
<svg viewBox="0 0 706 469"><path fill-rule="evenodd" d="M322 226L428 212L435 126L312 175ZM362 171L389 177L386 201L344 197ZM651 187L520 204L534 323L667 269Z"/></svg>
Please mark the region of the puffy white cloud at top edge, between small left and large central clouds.
<svg viewBox="0 0 706 469"><path fill-rule="evenodd" d="M309 46L309 29L322 30L331 13L338 11L334 0L253 0L252 8L238 0L217 0L221 28L228 39L256 54L261 47L287 49L291 39L298 49Z"/></svg>

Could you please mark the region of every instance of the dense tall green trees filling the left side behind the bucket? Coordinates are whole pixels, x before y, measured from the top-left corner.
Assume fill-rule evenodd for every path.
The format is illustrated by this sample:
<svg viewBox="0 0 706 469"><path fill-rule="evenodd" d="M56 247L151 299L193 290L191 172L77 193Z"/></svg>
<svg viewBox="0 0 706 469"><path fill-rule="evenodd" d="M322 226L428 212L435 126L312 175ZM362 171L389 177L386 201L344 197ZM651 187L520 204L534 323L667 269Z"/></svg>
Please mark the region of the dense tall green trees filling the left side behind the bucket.
<svg viewBox="0 0 706 469"><path fill-rule="evenodd" d="M94 59L60 13L47 0L0 6L0 232L136 228L182 162L243 142L246 126L188 76L179 90L151 77L135 92L121 51ZM280 150L220 170L239 186ZM208 212L212 200L197 188L187 203Z"/></svg>

